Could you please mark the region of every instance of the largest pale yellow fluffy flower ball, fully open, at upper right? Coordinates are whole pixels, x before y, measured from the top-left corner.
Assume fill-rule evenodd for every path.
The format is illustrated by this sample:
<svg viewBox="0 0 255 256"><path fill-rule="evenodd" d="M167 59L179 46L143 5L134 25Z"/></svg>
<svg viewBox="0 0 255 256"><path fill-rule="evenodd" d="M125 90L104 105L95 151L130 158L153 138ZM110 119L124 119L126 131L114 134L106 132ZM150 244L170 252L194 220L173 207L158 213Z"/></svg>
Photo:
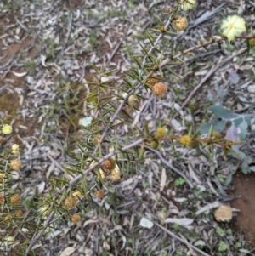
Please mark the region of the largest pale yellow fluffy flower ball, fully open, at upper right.
<svg viewBox="0 0 255 256"><path fill-rule="evenodd" d="M232 41L235 37L240 36L242 32L246 31L246 22L240 16L232 15L222 21L220 28L223 31L224 37Z"/></svg>

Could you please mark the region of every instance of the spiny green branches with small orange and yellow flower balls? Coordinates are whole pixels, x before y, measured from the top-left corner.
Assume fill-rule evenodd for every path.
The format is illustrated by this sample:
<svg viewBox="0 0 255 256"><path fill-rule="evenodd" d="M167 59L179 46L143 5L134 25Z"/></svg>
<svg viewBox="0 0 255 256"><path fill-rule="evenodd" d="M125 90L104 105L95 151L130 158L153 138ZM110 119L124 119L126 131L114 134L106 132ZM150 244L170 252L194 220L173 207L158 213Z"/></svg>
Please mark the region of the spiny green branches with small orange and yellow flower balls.
<svg viewBox="0 0 255 256"><path fill-rule="evenodd" d="M132 5L131 2L130 4ZM148 145L152 149L161 149L163 141L170 141L173 151L178 144L195 148L198 153L201 146L203 146L210 152L211 157L214 153L214 146L218 145L223 149L224 156L228 156L230 152L233 152L233 147L239 144L239 141L236 142L232 137L224 138L216 132L218 126L225 128L229 122L231 124L230 128L232 128L229 133L231 134L233 130L240 128L240 139L245 139L247 127L254 123L254 118L251 119L249 115L237 115L222 106L211 107L210 110L221 120L218 122L212 120L211 123L207 124L207 137L203 139L200 137L200 132L192 132L192 128L190 128L188 134L183 136L175 135L173 129L163 132L164 123L158 126L156 132L151 131L148 123L144 122L140 127L135 126L130 129L132 136L122 138L116 133L116 125L119 122L130 125L133 119L130 112L137 109L135 102L139 102L141 99L139 88L144 87L158 96L164 96L167 92L159 84L165 82L165 71L169 72L168 76L181 79L173 71L173 66L184 64L184 60L182 60L184 54L189 54L197 48L207 48L212 43L220 45L227 40L224 37L212 39L211 42L201 43L201 45L187 50L176 47L166 56L161 48L161 39L167 33L176 33L173 30L173 22L177 18L178 10L183 5L183 1L178 1L176 8L168 11L165 22L161 21L160 17L156 17L158 22L156 29L150 32L146 31L146 37L150 45L140 43L143 54L133 55L133 65L129 67L129 71L126 71L126 77L121 86L116 87L116 82L108 78L116 70L107 71L107 67L103 67L103 65L99 68L94 66L96 75L91 82L88 82L94 90L85 99L88 114L93 119L86 128L83 128L85 139L78 141L77 149L69 152L71 160L66 162L63 168L64 174L51 179L53 190L48 192L48 195L38 195L37 198L32 198L31 202L26 198L25 208L14 191L11 190L14 169L14 166L11 166L11 161L14 154L8 149L1 151L0 167L1 174L3 174L1 198L4 209L3 218L6 221L5 228L8 233L8 236L4 234L5 238L3 240L5 242L8 240L6 237L14 236L14 231L24 234L22 228L27 227L30 231L24 235L25 242L23 244L26 252L22 253L28 255L34 244L42 236L45 236L50 229L54 229L54 223L51 224L54 215L57 216L57 219L63 219L67 223L69 219L74 219L71 208L77 207L78 212L86 212L86 207L82 202L91 200L94 196L103 197L104 191L111 189L112 182L119 180L121 175L126 178L130 172L135 172L138 163L144 160L144 151ZM115 15L115 13L107 15ZM246 37L245 39L252 37ZM90 43L93 44L95 39L96 34L91 34ZM48 43L48 58L54 58L54 44L50 41L46 43ZM171 44L169 47L171 48ZM151 79L154 79L154 81ZM77 91L72 90L71 85L68 90L63 89L61 93L68 95L70 90L74 92L74 98L77 99ZM70 111L72 109L76 111L77 101L71 106ZM67 102L63 102L63 104L66 105ZM50 111L51 117L54 117L54 111L56 111L54 107L55 105L48 105L45 108L45 111ZM59 105L60 107L61 105ZM58 122L58 120L55 120L55 122ZM70 122L74 126L77 125L74 120ZM4 127L6 124L8 124L6 120L1 122L3 134L8 134L8 127ZM205 128L205 124L202 128ZM125 159L125 162L119 161L120 159ZM245 156L242 156L242 159L245 160ZM175 185L181 186L184 182L183 178L178 178ZM26 216L27 219L17 216L18 210L26 211L27 208L31 208L30 210L33 213ZM3 221L3 219L1 220ZM37 234L36 237L33 236L34 233ZM33 240L31 241L32 237ZM30 243L27 244L29 241ZM223 252L224 250L226 250L226 245L219 244L218 251Z"/></svg>

